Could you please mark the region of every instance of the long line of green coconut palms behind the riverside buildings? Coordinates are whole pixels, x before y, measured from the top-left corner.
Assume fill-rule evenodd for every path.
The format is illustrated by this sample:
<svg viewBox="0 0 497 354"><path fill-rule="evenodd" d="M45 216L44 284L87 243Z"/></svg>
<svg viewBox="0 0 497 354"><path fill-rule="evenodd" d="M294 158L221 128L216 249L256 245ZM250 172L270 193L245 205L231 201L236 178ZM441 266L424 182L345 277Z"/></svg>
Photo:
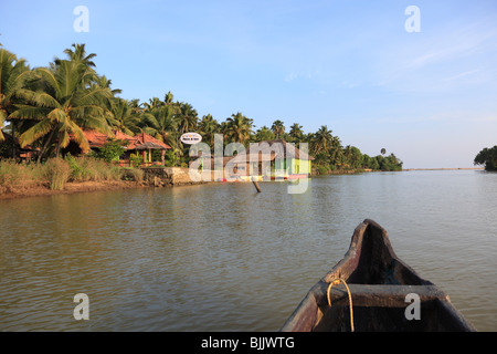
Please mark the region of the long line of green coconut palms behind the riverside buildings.
<svg viewBox="0 0 497 354"><path fill-rule="evenodd" d="M214 134L223 134L224 143L285 139L307 143L314 166L320 173L347 169L400 170L402 162L385 150L370 157L355 146L343 146L340 138L326 126L305 133L294 123L288 128L281 119L271 127L256 128L254 121L242 113L233 113L224 121L211 114L199 116L188 102L175 101L169 91L163 98L125 100L112 81L96 72L95 53L87 53L85 44L73 44L47 66L31 69L25 60L0 48L0 142L4 134L15 137L21 147L39 148L39 160L59 157L74 142L89 152L84 131L93 129L112 136L113 131L128 135L145 132L171 146L167 153L170 166L186 166L189 146L180 136L198 132L203 142L213 146ZM1 143L0 143L1 144ZM9 148L0 148L2 156Z"/></svg>

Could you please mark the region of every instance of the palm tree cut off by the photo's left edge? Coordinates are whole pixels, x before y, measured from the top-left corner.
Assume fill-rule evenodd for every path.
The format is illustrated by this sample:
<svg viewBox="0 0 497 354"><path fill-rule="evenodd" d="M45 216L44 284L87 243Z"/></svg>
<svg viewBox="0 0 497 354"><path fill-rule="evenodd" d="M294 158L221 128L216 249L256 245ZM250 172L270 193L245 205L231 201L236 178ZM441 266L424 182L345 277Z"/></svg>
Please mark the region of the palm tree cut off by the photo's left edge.
<svg viewBox="0 0 497 354"><path fill-rule="evenodd" d="M32 76L25 60L0 49L0 142L4 139L2 127L6 121L11 121L14 111L15 93ZM13 122L11 122L13 124Z"/></svg>

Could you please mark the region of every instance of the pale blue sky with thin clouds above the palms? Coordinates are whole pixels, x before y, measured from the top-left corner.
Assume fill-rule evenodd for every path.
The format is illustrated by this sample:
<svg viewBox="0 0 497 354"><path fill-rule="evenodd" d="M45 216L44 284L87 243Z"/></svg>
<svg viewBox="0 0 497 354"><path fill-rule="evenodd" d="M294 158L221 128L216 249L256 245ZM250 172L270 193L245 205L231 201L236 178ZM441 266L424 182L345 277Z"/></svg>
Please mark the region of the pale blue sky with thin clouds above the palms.
<svg viewBox="0 0 497 354"><path fill-rule="evenodd" d="M74 8L88 9L77 33ZM409 6L420 32L404 28ZM44 66L72 43L141 102L281 119L404 167L473 167L497 145L497 1L2 1L0 43Z"/></svg>

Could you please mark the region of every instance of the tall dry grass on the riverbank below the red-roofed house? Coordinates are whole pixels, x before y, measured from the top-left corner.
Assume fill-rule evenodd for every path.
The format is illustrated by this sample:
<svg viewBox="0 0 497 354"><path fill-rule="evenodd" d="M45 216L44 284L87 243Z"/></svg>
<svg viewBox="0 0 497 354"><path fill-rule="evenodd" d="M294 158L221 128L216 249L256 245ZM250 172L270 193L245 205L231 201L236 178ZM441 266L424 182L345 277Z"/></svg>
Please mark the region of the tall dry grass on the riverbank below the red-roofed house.
<svg viewBox="0 0 497 354"><path fill-rule="evenodd" d="M121 168L94 157L51 158L44 164L0 160L0 192L17 192L45 186L62 190L67 181L140 181L144 173L135 168Z"/></svg>

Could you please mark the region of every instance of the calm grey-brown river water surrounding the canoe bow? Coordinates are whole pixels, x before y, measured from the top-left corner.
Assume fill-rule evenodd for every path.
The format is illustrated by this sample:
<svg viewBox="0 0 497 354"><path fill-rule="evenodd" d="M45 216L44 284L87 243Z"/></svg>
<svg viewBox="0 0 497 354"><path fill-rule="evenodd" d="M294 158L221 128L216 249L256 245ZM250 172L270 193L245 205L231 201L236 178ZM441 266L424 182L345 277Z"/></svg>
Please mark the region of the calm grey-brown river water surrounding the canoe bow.
<svg viewBox="0 0 497 354"><path fill-rule="evenodd" d="M314 177L0 200L0 331L277 331L370 218L497 331L497 174ZM75 294L88 296L76 321Z"/></svg>

